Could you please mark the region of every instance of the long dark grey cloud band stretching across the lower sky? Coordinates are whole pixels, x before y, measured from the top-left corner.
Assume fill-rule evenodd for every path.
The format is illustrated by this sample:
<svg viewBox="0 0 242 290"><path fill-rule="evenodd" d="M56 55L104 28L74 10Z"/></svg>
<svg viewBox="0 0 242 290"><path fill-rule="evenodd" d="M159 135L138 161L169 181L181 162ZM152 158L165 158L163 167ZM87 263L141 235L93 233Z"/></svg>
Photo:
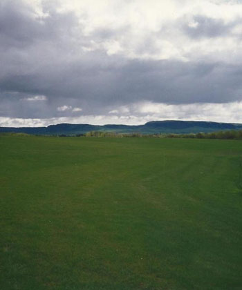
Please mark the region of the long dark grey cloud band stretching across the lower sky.
<svg viewBox="0 0 242 290"><path fill-rule="evenodd" d="M122 64L122 59L115 61ZM59 67L55 75L46 70L37 75L6 77L0 82L1 88L21 93L2 98L1 106L6 104L3 100L8 102L4 115L34 117L38 113L41 117L51 117L71 114L57 112L57 106L63 105L81 106L89 114L104 113L110 105L120 106L141 100L189 104L241 99L241 68L178 61L129 61L122 66L116 63L107 65L104 61L102 66L93 63L92 68L70 64L64 70ZM42 94L48 100L26 106L26 102L21 100L24 94ZM17 101L20 105L16 106ZM12 113L9 111L11 103L15 104Z"/></svg>

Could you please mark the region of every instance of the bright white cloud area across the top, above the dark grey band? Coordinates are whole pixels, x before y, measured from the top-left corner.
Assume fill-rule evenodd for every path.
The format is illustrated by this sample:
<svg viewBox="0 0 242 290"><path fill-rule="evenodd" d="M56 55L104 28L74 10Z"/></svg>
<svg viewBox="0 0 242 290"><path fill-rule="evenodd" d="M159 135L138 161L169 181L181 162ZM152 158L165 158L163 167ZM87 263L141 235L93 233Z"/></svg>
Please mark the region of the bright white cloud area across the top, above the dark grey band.
<svg viewBox="0 0 242 290"><path fill-rule="evenodd" d="M78 53L82 49L101 49L108 55L121 54L129 58L176 58L187 61L207 57L210 53L221 59L224 59L225 55L232 57L226 52L238 48L233 55L241 56L240 35L236 36L233 33L233 30L238 31L239 28L231 28L231 31L222 37L223 45L218 46L220 43L217 43L214 37L207 37L209 45L206 39L198 41L187 37L181 25L198 28L201 24L194 19L198 15L225 24L234 23L242 17L242 4L236 0L26 1L41 17L48 14L46 10L73 12L80 23L80 29L76 27L75 30L71 30L75 39L73 43L77 45L73 51ZM240 21L237 24L240 25ZM84 43L80 43L80 31L86 37ZM100 32L104 32L101 37ZM142 49L144 43L146 48Z"/></svg>

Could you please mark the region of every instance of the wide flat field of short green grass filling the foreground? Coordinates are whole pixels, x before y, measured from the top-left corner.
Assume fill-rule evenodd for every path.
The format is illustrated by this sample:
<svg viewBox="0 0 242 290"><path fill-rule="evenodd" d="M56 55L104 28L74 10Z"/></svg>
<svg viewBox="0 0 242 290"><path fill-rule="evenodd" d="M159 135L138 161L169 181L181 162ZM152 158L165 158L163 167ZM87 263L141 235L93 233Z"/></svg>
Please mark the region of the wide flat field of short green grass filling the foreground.
<svg viewBox="0 0 242 290"><path fill-rule="evenodd" d="M0 137L0 289L242 289L242 142Z"/></svg>

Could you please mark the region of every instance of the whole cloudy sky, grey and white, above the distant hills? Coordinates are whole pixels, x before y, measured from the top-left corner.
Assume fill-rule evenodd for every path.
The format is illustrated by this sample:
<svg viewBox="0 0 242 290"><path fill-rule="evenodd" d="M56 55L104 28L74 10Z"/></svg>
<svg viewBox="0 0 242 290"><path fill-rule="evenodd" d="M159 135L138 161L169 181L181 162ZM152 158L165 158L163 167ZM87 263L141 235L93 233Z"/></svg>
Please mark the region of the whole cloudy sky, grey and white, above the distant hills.
<svg viewBox="0 0 242 290"><path fill-rule="evenodd" d="M242 123L242 1L0 0L0 126Z"/></svg>

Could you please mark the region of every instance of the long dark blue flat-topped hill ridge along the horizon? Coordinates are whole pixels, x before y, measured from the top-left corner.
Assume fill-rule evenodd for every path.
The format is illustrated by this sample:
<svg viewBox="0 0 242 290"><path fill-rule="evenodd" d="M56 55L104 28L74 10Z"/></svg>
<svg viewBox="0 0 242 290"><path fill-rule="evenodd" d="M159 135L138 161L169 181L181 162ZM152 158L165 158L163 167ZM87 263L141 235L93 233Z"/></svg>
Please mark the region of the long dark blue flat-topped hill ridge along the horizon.
<svg viewBox="0 0 242 290"><path fill-rule="evenodd" d="M217 123L203 121L152 121L144 125L129 126L107 124L103 126L90 124L57 124L47 127L0 127L0 133L27 133L34 135L76 135L90 131L116 133L198 133L225 130L242 130L242 124Z"/></svg>

